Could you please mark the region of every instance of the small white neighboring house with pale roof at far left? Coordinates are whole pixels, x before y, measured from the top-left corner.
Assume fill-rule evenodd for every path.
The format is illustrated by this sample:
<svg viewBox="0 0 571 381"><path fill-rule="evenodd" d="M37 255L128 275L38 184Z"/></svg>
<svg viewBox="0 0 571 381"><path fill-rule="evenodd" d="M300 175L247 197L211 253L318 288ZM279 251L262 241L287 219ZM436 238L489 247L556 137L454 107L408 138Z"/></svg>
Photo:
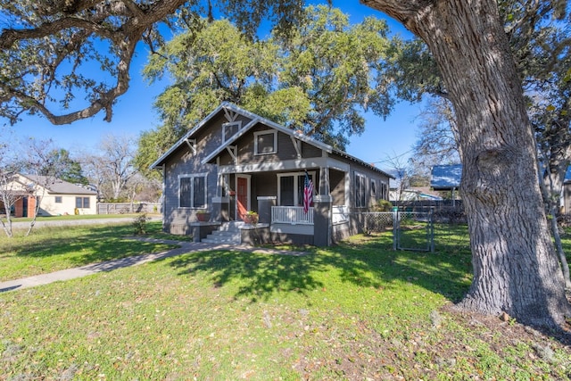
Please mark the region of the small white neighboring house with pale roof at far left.
<svg viewBox="0 0 571 381"><path fill-rule="evenodd" d="M15 217L33 216L36 198L38 216L97 214L97 192L60 178L19 174L10 187L21 194L14 205Z"/></svg>

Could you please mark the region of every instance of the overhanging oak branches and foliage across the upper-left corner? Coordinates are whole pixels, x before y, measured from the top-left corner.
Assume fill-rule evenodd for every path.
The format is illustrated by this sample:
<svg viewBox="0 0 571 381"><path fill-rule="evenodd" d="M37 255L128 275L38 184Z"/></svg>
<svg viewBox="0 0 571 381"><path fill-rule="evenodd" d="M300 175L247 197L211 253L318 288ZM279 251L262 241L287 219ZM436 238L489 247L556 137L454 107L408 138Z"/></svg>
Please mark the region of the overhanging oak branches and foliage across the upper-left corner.
<svg viewBox="0 0 571 381"><path fill-rule="evenodd" d="M66 124L104 112L128 90L137 44L154 51L161 23L194 29L201 15L229 14L249 31L270 16L282 27L302 1L0 0L0 115L41 113ZM62 112L63 111L63 112Z"/></svg>

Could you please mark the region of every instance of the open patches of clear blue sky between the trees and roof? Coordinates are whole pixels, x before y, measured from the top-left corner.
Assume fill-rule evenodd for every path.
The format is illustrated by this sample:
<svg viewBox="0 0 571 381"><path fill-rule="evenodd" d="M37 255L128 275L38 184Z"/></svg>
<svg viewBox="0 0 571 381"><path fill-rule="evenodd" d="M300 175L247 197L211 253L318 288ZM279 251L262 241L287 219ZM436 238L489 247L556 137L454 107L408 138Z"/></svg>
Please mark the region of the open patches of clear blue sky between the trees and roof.
<svg viewBox="0 0 571 381"><path fill-rule="evenodd" d="M393 33L410 37L410 32L401 24L389 19L384 13L359 4L357 0L334 1L333 4L349 14L352 22L360 22L365 16L375 15L387 20ZM25 116L21 122L13 126L13 130L22 138L34 137L38 140L51 138L56 147L65 148L71 153L95 150L98 142L107 134L137 138L141 132L155 128L159 124L153 111L153 99L166 85L163 81L148 86L143 81L140 72L146 58L146 48L141 44L131 65L130 88L115 105L111 123L103 121L102 112L90 119L64 126L54 126L40 116ZM365 132L359 137L351 138L347 153L365 162L374 162L381 168L387 168L388 158L401 156L406 159L410 155L411 145L417 140L416 125L420 111L420 104L401 103L396 105L386 120L373 114L366 114ZM2 124L6 122L6 120L1 121Z"/></svg>

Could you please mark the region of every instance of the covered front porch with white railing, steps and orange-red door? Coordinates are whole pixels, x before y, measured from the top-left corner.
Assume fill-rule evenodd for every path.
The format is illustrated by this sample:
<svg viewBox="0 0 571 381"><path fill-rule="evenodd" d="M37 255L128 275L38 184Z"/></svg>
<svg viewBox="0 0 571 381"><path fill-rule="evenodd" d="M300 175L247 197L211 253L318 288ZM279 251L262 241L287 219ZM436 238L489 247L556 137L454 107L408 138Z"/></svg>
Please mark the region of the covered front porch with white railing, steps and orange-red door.
<svg viewBox="0 0 571 381"><path fill-rule="evenodd" d="M214 220L241 221L247 211L255 211L260 226L241 228L246 242L263 237L263 242L332 244L339 236L336 231L349 226L348 172L309 168L307 173L314 192L306 211L305 170L224 173L222 169L219 193L212 200Z"/></svg>

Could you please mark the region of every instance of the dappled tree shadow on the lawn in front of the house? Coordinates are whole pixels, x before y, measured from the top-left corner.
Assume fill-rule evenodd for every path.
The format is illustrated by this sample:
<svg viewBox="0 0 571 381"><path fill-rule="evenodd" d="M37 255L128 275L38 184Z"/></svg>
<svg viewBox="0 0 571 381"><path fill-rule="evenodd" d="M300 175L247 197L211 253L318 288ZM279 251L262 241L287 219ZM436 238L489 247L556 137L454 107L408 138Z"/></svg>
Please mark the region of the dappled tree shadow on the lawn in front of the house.
<svg viewBox="0 0 571 381"><path fill-rule="evenodd" d="M327 286L327 273L355 286L390 288L405 281L458 301L469 286L469 253L393 252L381 236L343 243L304 256L232 251L190 253L170 265L180 275L205 274L213 286L239 282L236 296L252 302L290 291L306 294ZM338 275L337 275L338 274Z"/></svg>

